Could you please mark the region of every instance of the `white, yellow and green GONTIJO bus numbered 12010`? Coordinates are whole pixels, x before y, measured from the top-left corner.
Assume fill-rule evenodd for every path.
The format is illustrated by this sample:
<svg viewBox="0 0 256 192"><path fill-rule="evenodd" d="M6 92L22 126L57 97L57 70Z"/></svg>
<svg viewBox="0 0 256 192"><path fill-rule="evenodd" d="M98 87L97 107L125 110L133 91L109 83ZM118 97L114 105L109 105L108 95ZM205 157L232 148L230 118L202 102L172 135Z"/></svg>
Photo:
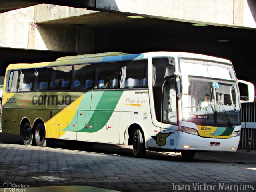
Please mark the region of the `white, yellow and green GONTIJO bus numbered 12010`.
<svg viewBox="0 0 256 192"><path fill-rule="evenodd" d="M241 101L254 86L237 80L229 60L183 52L108 52L10 64L6 69L2 132L24 144L51 139L132 145L181 152L238 148ZM86 143L85 143L86 144Z"/></svg>

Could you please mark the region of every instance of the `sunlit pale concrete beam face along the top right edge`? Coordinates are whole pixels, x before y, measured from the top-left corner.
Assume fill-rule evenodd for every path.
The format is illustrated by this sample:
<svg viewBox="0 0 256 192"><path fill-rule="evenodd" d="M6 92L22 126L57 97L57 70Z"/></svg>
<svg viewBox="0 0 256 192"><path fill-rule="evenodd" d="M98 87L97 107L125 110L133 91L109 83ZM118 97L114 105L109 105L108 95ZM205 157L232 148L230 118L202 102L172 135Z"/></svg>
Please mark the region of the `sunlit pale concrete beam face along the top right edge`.
<svg viewBox="0 0 256 192"><path fill-rule="evenodd" d="M255 0L97 0L96 8L147 17L256 28Z"/></svg>

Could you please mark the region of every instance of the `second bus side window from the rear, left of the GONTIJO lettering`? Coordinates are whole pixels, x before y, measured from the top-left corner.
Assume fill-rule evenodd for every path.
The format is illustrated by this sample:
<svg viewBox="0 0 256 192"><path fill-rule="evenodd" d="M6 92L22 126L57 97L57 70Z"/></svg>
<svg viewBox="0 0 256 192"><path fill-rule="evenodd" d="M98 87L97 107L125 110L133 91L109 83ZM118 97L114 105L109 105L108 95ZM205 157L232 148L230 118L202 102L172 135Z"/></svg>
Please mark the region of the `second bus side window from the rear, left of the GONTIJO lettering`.
<svg viewBox="0 0 256 192"><path fill-rule="evenodd" d="M31 91L34 82L35 69L22 70L18 91Z"/></svg>

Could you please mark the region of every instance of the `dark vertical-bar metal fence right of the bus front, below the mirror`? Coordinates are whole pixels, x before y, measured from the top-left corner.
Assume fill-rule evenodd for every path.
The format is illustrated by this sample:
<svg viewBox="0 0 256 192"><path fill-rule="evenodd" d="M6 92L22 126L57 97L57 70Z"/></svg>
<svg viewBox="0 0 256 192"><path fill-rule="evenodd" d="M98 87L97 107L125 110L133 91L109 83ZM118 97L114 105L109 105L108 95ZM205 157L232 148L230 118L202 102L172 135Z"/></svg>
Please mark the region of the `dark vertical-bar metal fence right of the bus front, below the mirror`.
<svg viewBox="0 0 256 192"><path fill-rule="evenodd" d="M254 103L242 103L239 148L256 149L256 97Z"/></svg>

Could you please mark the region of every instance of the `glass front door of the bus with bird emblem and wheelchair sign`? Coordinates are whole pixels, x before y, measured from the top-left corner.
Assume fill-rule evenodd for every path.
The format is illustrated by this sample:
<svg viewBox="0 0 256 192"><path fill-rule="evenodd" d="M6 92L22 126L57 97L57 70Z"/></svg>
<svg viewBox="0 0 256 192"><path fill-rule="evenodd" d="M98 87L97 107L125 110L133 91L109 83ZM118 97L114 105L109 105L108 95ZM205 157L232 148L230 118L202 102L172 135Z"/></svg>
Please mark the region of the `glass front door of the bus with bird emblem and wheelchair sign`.
<svg viewBox="0 0 256 192"><path fill-rule="evenodd" d="M158 142L163 149L174 149L177 143L178 116L176 81L167 80L162 92L162 124Z"/></svg>

